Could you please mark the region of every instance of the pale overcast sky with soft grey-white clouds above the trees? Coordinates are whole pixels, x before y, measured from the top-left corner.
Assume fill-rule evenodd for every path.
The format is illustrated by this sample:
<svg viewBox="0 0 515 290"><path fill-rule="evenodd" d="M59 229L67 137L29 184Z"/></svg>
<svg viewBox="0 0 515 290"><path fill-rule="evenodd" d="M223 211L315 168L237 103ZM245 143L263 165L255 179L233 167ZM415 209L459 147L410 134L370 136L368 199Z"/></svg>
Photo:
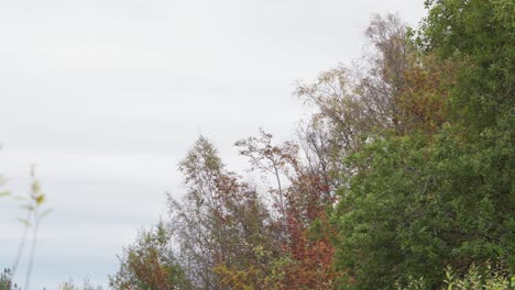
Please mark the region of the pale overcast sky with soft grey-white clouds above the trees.
<svg viewBox="0 0 515 290"><path fill-rule="evenodd" d="M415 25L423 2L0 0L0 174L25 194L36 164L54 210L32 289L107 285L165 216L164 192L183 191L177 163L198 134L235 167L232 144L260 126L293 138L295 81L357 58L372 13ZM0 199L0 268L22 233L13 204Z"/></svg>

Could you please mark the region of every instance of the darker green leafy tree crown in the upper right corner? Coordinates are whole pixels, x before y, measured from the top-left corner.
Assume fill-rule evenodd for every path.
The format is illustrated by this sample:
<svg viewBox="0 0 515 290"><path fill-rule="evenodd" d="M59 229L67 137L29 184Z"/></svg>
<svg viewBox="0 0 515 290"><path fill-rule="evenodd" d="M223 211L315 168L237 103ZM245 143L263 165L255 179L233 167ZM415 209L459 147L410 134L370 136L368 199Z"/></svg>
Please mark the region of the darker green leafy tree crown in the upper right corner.
<svg viewBox="0 0 515 290"><path fill-rule="evenodd" d="M451 104L456 120L478 133L514 107L515 2L428 0L426 7L419 43L462 64Z"/></svg>

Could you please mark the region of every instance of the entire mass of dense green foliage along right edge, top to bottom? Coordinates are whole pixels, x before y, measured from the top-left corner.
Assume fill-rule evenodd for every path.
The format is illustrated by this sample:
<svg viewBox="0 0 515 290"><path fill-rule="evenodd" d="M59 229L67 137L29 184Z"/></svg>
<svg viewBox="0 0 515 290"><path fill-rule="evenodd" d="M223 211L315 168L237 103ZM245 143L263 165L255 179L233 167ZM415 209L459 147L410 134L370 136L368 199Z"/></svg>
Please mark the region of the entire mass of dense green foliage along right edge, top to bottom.
<svg viewBox="0 0 515 290"><path fill-rule="evenodd" d="M443 287L486 261L515 270L515 2L427 1L421 54L452 62L448 119L436 132L371 135L339 189L341 289ZM409 96L408 96L409 97Z"/></svg>

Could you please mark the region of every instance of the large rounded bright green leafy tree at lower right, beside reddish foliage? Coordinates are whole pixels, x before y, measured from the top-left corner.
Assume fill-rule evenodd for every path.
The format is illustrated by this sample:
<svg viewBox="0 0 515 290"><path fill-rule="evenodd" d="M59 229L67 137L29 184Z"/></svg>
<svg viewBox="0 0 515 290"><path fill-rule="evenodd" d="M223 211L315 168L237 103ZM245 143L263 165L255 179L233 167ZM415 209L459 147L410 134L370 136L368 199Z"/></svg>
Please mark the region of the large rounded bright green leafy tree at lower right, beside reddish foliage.
<svg viewBox="0 0 515 290"><path fill-rule="evenodd" d="M360 171L340 189L335 219L339 266L355 288L387 288L420 272L435 287L448 264L505 259L514 269L513 121L475 143L446 127L432 138L376 140L348 159Z"/></svg>

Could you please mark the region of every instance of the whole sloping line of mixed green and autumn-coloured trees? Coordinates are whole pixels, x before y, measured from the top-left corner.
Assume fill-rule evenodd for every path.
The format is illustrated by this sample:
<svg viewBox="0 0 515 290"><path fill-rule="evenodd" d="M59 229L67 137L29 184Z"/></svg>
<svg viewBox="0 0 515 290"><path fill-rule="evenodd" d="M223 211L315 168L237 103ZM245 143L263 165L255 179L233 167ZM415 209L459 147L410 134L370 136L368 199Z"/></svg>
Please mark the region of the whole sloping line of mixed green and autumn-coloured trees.
<svg viewBox="0 0 515 290"><path fill-rule="evenodd" d="M123 249L113 289L515 287L515 2L428 0L375 15L371 49L295 94L298 138L200 136L186 194Z"/></svg>

